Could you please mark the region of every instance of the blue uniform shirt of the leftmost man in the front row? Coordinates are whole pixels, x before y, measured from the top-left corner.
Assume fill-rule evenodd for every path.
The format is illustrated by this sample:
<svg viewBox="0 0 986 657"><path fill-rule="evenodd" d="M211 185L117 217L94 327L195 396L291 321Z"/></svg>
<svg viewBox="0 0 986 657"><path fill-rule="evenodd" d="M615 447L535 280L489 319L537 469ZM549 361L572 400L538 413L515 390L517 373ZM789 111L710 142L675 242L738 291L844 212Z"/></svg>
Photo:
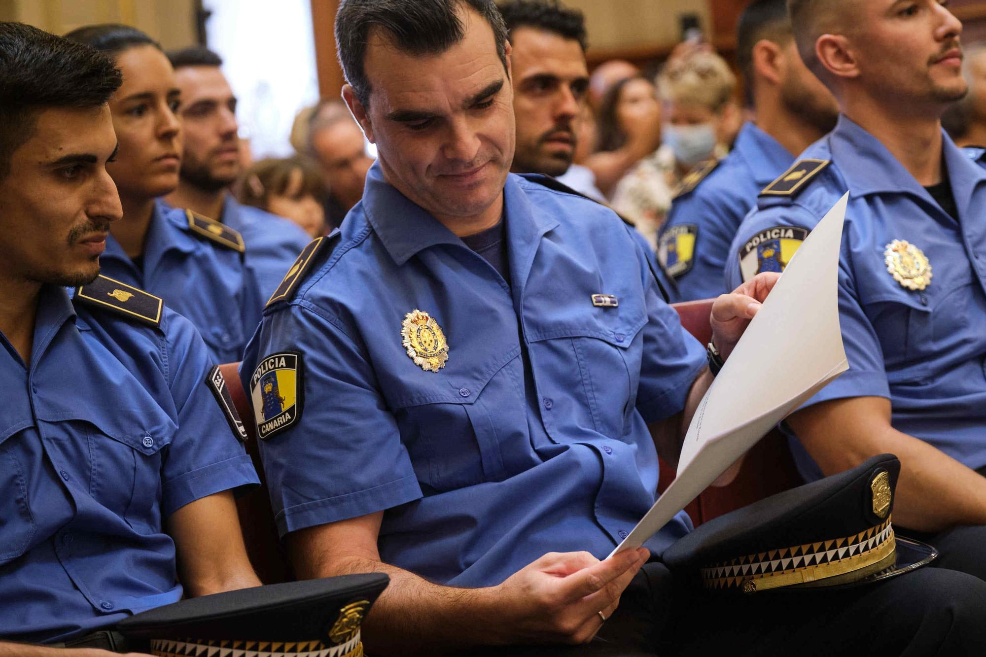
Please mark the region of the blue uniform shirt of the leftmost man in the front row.
<svg viewBox="0 0 986 657"><path fill-rule="evenodd" d="M257 482L195 329L47 286L31 363L0 344L0 637L63 640L180 600L164 520Z"/></svg>

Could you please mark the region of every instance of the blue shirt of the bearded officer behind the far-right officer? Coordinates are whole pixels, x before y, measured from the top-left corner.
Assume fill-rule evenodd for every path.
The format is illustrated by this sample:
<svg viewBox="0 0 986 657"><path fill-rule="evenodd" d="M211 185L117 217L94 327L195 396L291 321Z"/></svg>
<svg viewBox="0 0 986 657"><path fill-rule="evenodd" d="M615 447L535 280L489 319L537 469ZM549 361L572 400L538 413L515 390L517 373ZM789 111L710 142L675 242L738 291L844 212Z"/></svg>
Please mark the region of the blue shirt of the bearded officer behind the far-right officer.
<svg viewBox="0 0 986 657"><path fill-rule="evenodd" d="M792 164L794 156L776 139L746 123L719 166L674 199L658 238L658 259L677 288L669 292L672 301L713 299L736 289L726 285L723 270L740 221L760 190Z"/></svg>

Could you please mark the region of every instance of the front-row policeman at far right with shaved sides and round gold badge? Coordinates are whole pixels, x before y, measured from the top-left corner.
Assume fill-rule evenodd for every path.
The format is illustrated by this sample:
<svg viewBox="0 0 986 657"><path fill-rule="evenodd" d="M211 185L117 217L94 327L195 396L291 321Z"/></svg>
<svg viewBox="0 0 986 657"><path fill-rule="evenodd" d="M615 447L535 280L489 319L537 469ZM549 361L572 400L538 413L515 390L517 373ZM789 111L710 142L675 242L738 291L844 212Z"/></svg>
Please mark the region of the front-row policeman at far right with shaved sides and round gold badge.
<svg viewBox="0 0 986 657"><path fill-rule="evenodd" d="M966 90L962 26L933 0L791 9L802 56L843 114L763 190L728 282L783 269L849 192L839 273L849 371L787 420L797 461L813 479L896 454L894 522L930 533L939 564L986 577L986 158L956 148L939 120Z"/></svg>

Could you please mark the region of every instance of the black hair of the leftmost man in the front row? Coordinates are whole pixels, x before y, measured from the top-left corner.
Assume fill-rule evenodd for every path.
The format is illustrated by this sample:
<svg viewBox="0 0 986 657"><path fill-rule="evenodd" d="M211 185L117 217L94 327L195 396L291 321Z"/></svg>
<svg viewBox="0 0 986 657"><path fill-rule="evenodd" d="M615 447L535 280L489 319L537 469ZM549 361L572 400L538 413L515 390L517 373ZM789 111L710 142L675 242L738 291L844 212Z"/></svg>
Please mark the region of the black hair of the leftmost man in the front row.
<svg viewBox="0 0 986 657"><path fill-rule="evenodd" d="M119 69L95 49L21 23L0 23L0 179L34 135L39 111L106 105Z"/></svg>

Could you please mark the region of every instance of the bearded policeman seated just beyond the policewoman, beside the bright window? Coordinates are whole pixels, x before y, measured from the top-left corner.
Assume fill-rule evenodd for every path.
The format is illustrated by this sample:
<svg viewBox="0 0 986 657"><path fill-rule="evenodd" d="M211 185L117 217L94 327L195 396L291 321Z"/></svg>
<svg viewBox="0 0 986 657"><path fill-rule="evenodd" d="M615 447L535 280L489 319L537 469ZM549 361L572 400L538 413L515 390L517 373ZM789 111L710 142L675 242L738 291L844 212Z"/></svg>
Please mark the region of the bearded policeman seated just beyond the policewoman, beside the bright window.
<svg viewBox="0 0 986 657"><path fill-rule="evenodd" d="M266 301L298 254L311 242L297 224L260 208L242 205L229 191L242 173L237 98L220 70L223 60L204 47L168 53L181 91L183 148L178 186L168 194L174 207L217 217L244 237Z"/></svg>

